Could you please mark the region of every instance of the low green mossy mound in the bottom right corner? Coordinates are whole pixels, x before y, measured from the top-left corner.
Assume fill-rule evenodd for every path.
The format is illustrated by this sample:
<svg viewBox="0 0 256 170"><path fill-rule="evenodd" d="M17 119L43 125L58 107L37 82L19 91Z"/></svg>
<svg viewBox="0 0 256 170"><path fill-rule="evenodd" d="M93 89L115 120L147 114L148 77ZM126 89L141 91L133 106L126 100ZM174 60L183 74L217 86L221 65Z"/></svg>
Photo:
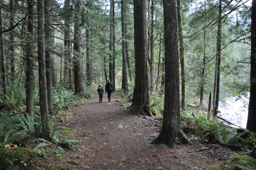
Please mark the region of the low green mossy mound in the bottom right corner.
<svg viewBox="0 0 256 170"><path fill-rule="evenodd" d="M249 156L233 156L222 164L212 165L207 170L255 170L256 159Z"/></svg>

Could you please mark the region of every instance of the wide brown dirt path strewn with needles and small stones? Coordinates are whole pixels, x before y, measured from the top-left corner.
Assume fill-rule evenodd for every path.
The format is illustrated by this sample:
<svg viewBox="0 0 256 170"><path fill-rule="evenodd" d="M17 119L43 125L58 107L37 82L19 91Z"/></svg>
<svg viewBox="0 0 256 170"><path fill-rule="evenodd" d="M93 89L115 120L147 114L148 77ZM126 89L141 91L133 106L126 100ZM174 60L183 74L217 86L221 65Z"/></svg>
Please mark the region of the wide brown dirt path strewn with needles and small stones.
<svg viewBox="0 0 256 170"><path fill-rule="evenodd" d="M86 100L73 110L73 115L61 120L80 141L75 150L59 156L45 156L44 169L51 170L206 170L221 164L238 153L218 145L201 144L176 148L151 144L161 129L160 118L128 114L131 103L122 101L117 93L111 103L107 94L99 103L99 95ZM58 118L57 118L58 119ZM122 125L122 126L121 126ZM121 128L122 127L122 128ZM49 168L50 167L50 168Z"/></svg>

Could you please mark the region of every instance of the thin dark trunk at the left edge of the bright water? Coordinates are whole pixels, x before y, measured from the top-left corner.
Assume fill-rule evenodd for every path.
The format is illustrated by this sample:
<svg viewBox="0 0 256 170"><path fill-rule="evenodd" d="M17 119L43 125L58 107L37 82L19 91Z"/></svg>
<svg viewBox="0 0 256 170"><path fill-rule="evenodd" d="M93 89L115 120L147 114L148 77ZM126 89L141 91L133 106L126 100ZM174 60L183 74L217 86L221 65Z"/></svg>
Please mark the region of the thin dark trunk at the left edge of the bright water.
<svg viewBox="0 0 256 170"><path fill-rule="evenodd" d="M214 107L214 116L218 114L218 102L220 96L220 81L221 81L221 6L222 0L219 0L219 16L218 16L218 32L217 32L217 55L218 64L217 64L217 82L216 82L216 98L215 98L215 107Z"/></svg>

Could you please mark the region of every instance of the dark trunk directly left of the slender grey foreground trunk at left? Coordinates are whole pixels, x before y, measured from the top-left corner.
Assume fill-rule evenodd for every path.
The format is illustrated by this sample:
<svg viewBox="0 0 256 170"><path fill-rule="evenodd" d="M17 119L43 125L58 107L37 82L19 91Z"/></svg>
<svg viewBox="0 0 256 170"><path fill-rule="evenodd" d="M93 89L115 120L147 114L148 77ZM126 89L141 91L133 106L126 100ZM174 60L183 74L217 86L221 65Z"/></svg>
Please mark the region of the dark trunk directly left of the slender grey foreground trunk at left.
<svg viewBox="0 0 256 170"><path fill-rule="evenodd" d="M28 0L28 35L26 36L26 112L30 117L34 118L34 69L35 63L33 53L35 50L34 33L33 33L33 13L34 0Z"/></svg>

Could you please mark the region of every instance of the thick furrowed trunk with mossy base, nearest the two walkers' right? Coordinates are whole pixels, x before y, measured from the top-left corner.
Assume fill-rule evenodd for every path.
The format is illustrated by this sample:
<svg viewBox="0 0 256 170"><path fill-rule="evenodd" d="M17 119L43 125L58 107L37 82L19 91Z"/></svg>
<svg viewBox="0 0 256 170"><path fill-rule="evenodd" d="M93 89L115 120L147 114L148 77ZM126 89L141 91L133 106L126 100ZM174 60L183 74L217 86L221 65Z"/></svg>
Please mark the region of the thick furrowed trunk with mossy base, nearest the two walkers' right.
<svg viewBox="0 0 256 170"><path fill-rule="evenodd" d="M135 86L130 112L156 115L150 104L148 88L146 0L134 0Z"/></svg>

